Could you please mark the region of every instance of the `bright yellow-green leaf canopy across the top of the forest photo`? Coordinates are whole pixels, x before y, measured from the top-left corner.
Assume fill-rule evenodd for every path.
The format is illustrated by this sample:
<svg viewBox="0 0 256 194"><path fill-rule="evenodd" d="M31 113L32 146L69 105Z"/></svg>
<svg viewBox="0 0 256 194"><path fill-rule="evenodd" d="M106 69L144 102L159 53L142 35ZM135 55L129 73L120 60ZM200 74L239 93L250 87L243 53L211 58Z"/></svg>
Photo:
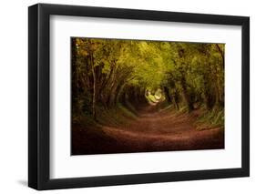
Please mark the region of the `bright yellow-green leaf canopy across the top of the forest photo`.
<svg viewBox="0 0 256 194"><path fill-rule="evenodd" d="M199 90L202 87L202 77L215 78L221 82L224 77L223 69L220 68L220 52L215 45L76 38L81 66L87 63L85 56L92 53L93 66L102 66L101 73L110 74L117 68L118 71L122 69L132 72L129 84L156 87L162 83L167 84L170 78L179 83L180 77L185 76ZM219 46L224 51L224 45Z"/></svg>

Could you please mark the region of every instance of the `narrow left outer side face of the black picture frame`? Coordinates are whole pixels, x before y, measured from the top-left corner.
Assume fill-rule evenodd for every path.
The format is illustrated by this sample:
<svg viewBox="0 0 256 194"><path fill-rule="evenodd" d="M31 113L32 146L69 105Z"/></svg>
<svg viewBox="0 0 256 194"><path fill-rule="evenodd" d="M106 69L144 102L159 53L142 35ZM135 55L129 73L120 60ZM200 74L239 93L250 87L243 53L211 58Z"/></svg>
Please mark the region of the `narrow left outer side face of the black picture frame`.
<svg viewBox="0 0 256 194"><path fill-rule="evenodd" d="M38 5L28 7L28 187L38 188L37 48Z"/></svg>

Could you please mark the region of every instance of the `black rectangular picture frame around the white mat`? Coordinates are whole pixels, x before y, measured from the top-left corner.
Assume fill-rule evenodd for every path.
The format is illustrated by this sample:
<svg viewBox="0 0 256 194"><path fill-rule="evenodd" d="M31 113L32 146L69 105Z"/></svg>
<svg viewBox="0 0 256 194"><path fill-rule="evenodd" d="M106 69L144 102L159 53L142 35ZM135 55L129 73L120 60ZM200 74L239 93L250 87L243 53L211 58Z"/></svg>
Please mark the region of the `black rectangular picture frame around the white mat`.
<svg viewBox="0 0 256 194"><path fill-rule="evenodd" d="M91 16L148 21L241 26L241 168L205 169L118 176L50 179L50 15ZM33 189L154 183L250 176L250 18L176 12L37 4L28 8L28 186Z"/></svg>

